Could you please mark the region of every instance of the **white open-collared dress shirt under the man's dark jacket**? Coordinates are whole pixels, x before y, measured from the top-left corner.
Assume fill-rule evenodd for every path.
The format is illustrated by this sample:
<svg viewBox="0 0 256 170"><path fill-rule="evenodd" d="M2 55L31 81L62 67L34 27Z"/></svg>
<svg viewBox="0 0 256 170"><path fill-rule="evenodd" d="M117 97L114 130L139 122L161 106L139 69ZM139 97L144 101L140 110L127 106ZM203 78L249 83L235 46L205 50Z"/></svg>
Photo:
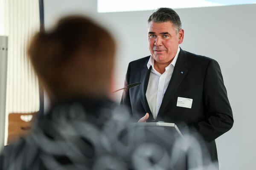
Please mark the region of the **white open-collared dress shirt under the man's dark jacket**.
<svg viewBox="0 0 256 170"><path fill-rule="evenodd" d="M146 99L148 101L148 105L154 119L157 118L159 108L162 104L163 95L166 92L166 89L172 78L172 73L173 73L179 52L180 52L180 47L178 47L177 54L175 55L172 62L166 67L166 70L163 74L160 74L158 71L155 70L154 58L152 56L148 60L148 64L147 64L148 69L150 68L150 66L152 66L152 68L151 68L151 72L148 80Z"/></svg>

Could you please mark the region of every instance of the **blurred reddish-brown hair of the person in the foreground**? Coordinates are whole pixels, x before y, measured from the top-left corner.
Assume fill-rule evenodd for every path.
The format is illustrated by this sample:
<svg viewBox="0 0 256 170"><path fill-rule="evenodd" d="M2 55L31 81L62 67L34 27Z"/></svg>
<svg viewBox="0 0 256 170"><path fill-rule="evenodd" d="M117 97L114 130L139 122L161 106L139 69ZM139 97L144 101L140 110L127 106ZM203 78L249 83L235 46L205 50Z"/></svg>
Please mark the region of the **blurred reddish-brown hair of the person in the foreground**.
<svg viewBox="0 0 256 170"><path fill-rule="evenodd" d="M115 48L104 28L85 17L70 16L52 31L37 33L28 54L51 97L103 95L109 89Z"/></svg>

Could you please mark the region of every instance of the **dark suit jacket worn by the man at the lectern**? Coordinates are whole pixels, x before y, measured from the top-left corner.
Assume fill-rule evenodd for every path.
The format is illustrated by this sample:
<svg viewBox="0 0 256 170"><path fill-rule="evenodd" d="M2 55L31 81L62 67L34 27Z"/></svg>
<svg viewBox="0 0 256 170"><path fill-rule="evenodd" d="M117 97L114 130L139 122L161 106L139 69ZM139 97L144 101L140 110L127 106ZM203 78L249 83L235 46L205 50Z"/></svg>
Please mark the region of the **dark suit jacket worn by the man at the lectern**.
<svg viewBox="0 0 256 170"><path fill-rule="evenodd" d="M125 84L141 82L140 86L125 90L121 103L131 108L135 121L149 113L145 96L150 69L148 57L128 65ZM192 108L177 107L177 97L193 99ZM157 121L185 123L204 139L212 160L218 160L215 139L233 126L233 114L227 98L221 70L214 59L180 49L172 78L163 96Z"/></svg>

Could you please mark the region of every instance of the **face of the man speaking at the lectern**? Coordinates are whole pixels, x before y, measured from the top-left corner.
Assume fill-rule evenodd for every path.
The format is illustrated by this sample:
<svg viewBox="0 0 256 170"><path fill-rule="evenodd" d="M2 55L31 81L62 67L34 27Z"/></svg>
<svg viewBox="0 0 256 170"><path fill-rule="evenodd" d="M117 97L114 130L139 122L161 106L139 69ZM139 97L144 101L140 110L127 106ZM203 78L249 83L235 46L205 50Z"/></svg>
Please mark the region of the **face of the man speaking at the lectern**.
<svg viewBox="0 0 256 170"><path fill-rule="evenodd" d="M148 23L148 45L154 60L161 64L169 64L175 57L178 45L182 43L184 30L178 34L172 22Z"/></svg>

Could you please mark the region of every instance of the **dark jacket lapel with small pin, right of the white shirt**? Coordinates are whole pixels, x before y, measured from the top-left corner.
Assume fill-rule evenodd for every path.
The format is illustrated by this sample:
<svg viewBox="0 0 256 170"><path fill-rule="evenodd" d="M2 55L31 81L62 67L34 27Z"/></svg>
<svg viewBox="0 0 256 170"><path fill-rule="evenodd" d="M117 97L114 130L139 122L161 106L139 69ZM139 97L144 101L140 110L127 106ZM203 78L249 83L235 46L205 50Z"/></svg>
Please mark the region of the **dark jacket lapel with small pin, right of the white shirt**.
<svg viewBox="0 0 256 170"><path fill-rule="evenodd" d="M157 117L161 118L161 115L164 114L163 111L164 111L166 105L168 105L170 99L175 94L175 91L177 90L177 88L179 87L183 78L185 77L185 75L187 73L186 65L187 65L186 54L180 48L180 53L178 55L178 58L177 58L177 61L175 64L174 71L172 73L172 78L169 82L169 85L166 89L165 94L163 95L163 101L162 101L162 104L158 111Z"/></svg>

